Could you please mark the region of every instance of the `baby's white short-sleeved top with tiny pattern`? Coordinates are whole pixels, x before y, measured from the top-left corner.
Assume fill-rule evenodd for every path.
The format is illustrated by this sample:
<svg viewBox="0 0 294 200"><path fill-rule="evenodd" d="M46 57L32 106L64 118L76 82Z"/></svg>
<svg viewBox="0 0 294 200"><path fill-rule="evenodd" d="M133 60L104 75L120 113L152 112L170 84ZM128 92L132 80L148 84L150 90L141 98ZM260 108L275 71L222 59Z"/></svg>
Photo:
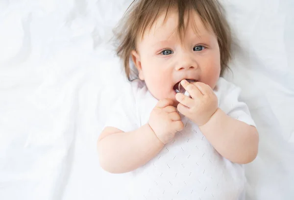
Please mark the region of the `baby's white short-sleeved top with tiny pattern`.
<svg viewBox="0 0 294 200"><path fill-rule="evenodd" d="M131 90L116 101L106 126L127 132L148 122L157 100L143 81L130 85ZM221 110L255 126L247 105L238 101L240 91L223 78L214 90ZM223 158L196 124L181 117L185 128L157 156L129 174L129 199L240 200L245 185L243 166Z"/></svg>

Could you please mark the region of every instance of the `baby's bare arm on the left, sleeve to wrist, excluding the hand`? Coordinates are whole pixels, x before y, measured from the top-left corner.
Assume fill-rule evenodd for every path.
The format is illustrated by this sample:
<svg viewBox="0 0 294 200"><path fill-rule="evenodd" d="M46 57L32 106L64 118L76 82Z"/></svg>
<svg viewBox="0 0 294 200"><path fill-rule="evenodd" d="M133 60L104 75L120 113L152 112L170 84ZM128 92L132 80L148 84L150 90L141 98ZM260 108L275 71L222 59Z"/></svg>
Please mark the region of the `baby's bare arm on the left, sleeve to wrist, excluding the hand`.
<svg viewBox="0 0 294 200"><path fill-rule="evenodd" d="M98 139L100 166L110 173L130 172L147 163L163 146L148 124L131 132L106 127Z"/></svg>

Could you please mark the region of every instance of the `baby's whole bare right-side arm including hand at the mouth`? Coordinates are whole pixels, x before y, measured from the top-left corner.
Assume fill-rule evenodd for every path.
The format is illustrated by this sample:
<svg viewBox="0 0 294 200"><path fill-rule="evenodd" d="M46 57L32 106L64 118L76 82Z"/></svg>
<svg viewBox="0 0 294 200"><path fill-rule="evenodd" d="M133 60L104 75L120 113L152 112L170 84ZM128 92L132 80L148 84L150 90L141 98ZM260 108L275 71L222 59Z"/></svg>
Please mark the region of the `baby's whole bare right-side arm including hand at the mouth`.
<svg viewBox="0 0 294 200"><path fill-rule="evenodd" d="M258 152L259 136L255 127L227 116L218 108L213 90L201 82L182 82L191 98L176 94L178 110L199 126L211 145L234 163L253 161Z"/></svg>

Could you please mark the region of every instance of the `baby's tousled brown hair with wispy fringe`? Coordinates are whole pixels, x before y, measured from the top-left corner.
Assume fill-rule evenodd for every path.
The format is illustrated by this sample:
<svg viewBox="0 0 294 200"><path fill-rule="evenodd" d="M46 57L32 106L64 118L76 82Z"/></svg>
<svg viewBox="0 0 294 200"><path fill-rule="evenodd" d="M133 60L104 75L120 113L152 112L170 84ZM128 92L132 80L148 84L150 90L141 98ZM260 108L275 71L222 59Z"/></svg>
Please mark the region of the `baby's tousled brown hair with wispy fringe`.
<svg viewBox="0 0 294 200"><path fill-rule="evenodd" d="M147 28L150 28L157 17L170 9L178 11L178 33L182 38L185 30L184 17L190 10L194 10L200 17L203 25L211 29L219 43L221 54L221 75L228 68L231 59L231 32L223 15L223 9L218 0L134 0L128 7L124 17L116 29L116 39L119 42L117 55L123 60L125 74L131 80L130 68L131 51L136 50L137 37L143 37Z"/></svg>

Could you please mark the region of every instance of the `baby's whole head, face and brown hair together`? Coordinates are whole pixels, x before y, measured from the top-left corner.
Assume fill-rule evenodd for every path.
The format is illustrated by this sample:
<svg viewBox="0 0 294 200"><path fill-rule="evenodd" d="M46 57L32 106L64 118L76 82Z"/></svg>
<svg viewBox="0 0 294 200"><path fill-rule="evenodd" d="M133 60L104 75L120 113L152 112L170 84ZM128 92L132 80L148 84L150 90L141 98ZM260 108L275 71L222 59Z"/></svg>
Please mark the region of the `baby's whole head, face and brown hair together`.
<svg viewBox="0 0 294 200"><path fill-rule="evenodd" d="M231 35L217 0L134 0L118 34L129 80L137 76L158 100L192 79L214 88L231 57Z"/></svg>

